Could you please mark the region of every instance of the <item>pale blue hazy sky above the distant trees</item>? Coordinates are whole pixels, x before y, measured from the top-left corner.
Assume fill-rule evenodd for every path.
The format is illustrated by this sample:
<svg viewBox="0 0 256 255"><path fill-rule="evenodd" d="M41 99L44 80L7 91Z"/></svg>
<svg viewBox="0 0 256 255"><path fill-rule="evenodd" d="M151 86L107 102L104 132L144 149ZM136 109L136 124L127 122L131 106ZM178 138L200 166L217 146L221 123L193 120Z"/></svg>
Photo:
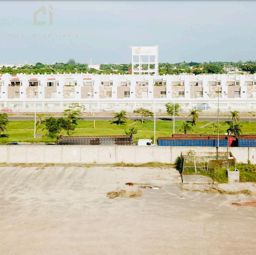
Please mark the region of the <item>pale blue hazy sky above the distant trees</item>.
<svg viewBox="0 0 256 255"><path fill-rule="evenodd" d="M0 63L130 63L130 46L156 44L159 62L256 60L256 1L0 1L0 10Z"/></svg>

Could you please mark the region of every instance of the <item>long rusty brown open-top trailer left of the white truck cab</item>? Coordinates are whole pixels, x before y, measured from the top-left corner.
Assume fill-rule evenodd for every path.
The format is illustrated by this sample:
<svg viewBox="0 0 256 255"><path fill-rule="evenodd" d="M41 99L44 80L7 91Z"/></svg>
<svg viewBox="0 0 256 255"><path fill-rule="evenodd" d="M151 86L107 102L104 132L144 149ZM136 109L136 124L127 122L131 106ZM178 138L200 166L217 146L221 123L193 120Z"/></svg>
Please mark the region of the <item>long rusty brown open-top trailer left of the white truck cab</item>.
<svg viewBox="0 0 256 255"><path fill-rule="evenodd" d="M59 136L59 145L133 145L133 135Z"/></svg>

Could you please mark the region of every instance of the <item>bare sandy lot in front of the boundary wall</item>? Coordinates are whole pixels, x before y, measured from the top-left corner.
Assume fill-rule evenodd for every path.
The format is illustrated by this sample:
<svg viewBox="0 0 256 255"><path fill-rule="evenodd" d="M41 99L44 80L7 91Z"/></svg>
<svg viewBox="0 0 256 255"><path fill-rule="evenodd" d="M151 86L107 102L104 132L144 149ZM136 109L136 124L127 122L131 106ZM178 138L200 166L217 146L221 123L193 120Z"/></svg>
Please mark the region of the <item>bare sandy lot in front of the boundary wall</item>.
<svg viewBox="0 0 256 255"><path fill-rule="evenodd" d="M0 179L0 254L255 254L256 208L231 204L255 196L182 191L174 169L1 167ZM106 197L139 189L125 182L161 189Z"/></svg>

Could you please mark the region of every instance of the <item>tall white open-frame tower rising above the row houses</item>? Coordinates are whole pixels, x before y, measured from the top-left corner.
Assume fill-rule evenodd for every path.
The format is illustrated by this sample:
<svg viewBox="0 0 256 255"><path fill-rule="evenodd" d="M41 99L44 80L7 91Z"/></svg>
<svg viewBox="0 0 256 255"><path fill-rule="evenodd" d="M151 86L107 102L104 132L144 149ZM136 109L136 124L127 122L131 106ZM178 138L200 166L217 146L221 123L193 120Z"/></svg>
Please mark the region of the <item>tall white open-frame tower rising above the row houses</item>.
<svg viewBox="0 0 256 255"><path fill-rule="evenodd" d="M132 48L132 74L154 73L158 75L158 45L131 46L130 48Z"/></svg>

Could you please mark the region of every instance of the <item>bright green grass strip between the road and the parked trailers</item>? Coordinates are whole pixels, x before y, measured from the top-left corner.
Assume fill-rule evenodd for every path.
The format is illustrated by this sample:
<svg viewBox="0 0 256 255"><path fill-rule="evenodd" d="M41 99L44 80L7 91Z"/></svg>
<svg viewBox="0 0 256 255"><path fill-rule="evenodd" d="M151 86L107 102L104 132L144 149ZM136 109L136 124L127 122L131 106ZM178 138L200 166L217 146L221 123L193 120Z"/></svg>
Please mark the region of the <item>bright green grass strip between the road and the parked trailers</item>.
<svg viewBox="0 0 256 255"><path fill-rule="evenodd" d="M256 133L256 122L241 122L244 134ZM132 124L132 125L131 125ZM198 122L193 127L192 134L217 134L217 122L209 121ZM131 127L138 129L138 133L135 137L138 138L151 138L154 139L154 121L145 120L143 124L138 121L127 121L126 124L118 126L111 121L95 121L95 129L93 128L93 121L78 121L78 125L72 135L119 135L125 134L125 130L129 130ZM205 126L206 125L206 126ZM182 121L175 122L175 133L182 133L179 131L182 126ZM203 127L204 126L204 127ZM10 121L8 132L5 135L8 137L0 137L0 143L6 142L32 142L32 143L49 143L54 142L53 139L46 136L46 130L37 130L37 136L34 138L34 121ZM225 134L228 129L226 122L220 122L220 134ZM63 133L65 134L65 133ZM172 121L156 121L156 138L159 136L172 136L173 134L173 122Z"/></svg>

